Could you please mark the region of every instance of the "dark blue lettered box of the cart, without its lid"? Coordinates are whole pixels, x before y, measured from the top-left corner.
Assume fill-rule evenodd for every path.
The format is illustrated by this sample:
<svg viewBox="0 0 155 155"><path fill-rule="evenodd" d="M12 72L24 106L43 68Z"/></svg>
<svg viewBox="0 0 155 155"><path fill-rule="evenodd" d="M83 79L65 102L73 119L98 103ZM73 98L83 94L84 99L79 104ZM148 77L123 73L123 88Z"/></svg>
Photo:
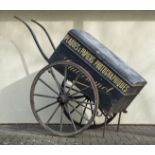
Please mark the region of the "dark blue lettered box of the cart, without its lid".
<svg viewBox="0 0 155 155"><path fill-rule="evenodd" d="M94 54L93 49L89 49L88 44L85 45L84 42L80 42L81 40L79 40L79 38L74 37L77 36L70 36L68 34L65 36L51 56L50 63L61 60L71 60L79 64L94 78L99 91L100 106L105 111L117 113L126 110L146 82L143 81L136 85L130 85L125 79L121 78L123 75L120 76L115 70L108 67L106 62L101 61L100 57ZM100 70L101 67L102 72ZM57 70L63 74L61 68ZM111 74L108 74L108 71ZM108 76L105 73L107 73ZM70 80L74 80L77 73L70 70L69 74ZM114 78L110 79L111 77ZM84 94L91 98L91 91L88 90L84 92Z"/></svg>

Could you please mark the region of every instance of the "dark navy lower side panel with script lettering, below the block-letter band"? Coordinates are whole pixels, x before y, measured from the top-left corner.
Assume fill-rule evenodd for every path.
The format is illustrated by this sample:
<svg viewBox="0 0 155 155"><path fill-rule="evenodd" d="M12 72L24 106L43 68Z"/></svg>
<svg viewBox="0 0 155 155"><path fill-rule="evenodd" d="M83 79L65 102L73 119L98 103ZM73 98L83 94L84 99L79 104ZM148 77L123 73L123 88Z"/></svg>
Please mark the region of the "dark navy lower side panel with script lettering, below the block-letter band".
<svg viewBox="0 0 155 155"><path fill-rule="evenodd" d="M96 71L93 70L84 60L80 59L80 57L78 57L74 52L69 50L65 44L60 44L50 58L51 63L62 60L71 60L82 66L92 75L99 91L100 106L104 110L109 111L113 103L118 103L118 101L123 97L121 92L117 91L111 84L109 84L108 81L98 75L98 73L96 73ZM61 68L57 68L57 70L62 74L64 73ZM76 72L69 70L69 76L70 80L74 80ZM82 82L83 81L84 80L82 80ZM86 83L86 81L83 83ZM91 91L87 90L84 93L91 98Z"/></svg>

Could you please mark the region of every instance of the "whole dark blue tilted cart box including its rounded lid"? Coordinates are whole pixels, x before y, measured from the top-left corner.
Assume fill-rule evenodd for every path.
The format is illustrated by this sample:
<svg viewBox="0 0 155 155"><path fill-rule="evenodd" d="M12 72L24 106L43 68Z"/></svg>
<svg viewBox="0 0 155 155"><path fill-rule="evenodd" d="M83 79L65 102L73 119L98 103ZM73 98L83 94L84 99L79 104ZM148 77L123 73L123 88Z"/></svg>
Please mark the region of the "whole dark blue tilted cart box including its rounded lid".
<svg viewBox="0 0 155 155"><path fill-rule="evenodd" d="M50 63L71 60L86 69L99 91L100 107L111 113L126 110L146 81L90 34L71 30L50 57ZM58 69L60 72L61 69ZM70 78L76 71L70 69ZM90 92L85 92L91 96Z"/></svg>

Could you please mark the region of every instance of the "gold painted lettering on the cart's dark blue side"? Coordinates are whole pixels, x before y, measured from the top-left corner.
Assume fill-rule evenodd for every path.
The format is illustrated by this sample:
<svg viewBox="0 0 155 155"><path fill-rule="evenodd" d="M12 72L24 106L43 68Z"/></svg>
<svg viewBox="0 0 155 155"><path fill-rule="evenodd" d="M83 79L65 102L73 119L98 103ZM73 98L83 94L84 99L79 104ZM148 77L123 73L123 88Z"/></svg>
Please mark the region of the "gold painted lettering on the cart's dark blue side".
<svg viewBox="0 0 155 155"><path fill-rule="evenodd" d="M92 64L104 77L106 77L109 81L111 81L117 88L119 88L122 92L126 93L130 86L124 82L117 74L115 74L109 67L103 64L100 60L98 60L94 55L90 53L86 48L84 48L78 41L76 41L70 35L66 35L64 38L65 43L69 45L75 52L79 53L81 57L87 60L90 64ZM78 70L73 67L68 67L70 71L78 73ZM106 92L110 92L113 88L106 88L101 83L96 82L96 86L99 89L106 90Z"/></svg>

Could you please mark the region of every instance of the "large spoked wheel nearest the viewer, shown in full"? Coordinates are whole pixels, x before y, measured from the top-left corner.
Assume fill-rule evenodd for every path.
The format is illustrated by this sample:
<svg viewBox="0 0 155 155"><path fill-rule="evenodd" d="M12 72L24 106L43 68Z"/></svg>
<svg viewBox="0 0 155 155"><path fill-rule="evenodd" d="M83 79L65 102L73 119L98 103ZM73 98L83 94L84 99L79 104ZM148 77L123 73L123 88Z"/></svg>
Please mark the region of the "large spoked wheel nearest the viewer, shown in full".
<svg viewBox="0 0 155 155"><path fill-rule="evenodd" d="M91 102L85 102L85 94L91 96ZM36 75L30 102L36 120L46 130L53 135L73 136L92 124L99 97L92 76L84 68L71 61L60 61ZM86 109L91 111L86 113ZM77 119L82 126L74 122Z"/></svg>

